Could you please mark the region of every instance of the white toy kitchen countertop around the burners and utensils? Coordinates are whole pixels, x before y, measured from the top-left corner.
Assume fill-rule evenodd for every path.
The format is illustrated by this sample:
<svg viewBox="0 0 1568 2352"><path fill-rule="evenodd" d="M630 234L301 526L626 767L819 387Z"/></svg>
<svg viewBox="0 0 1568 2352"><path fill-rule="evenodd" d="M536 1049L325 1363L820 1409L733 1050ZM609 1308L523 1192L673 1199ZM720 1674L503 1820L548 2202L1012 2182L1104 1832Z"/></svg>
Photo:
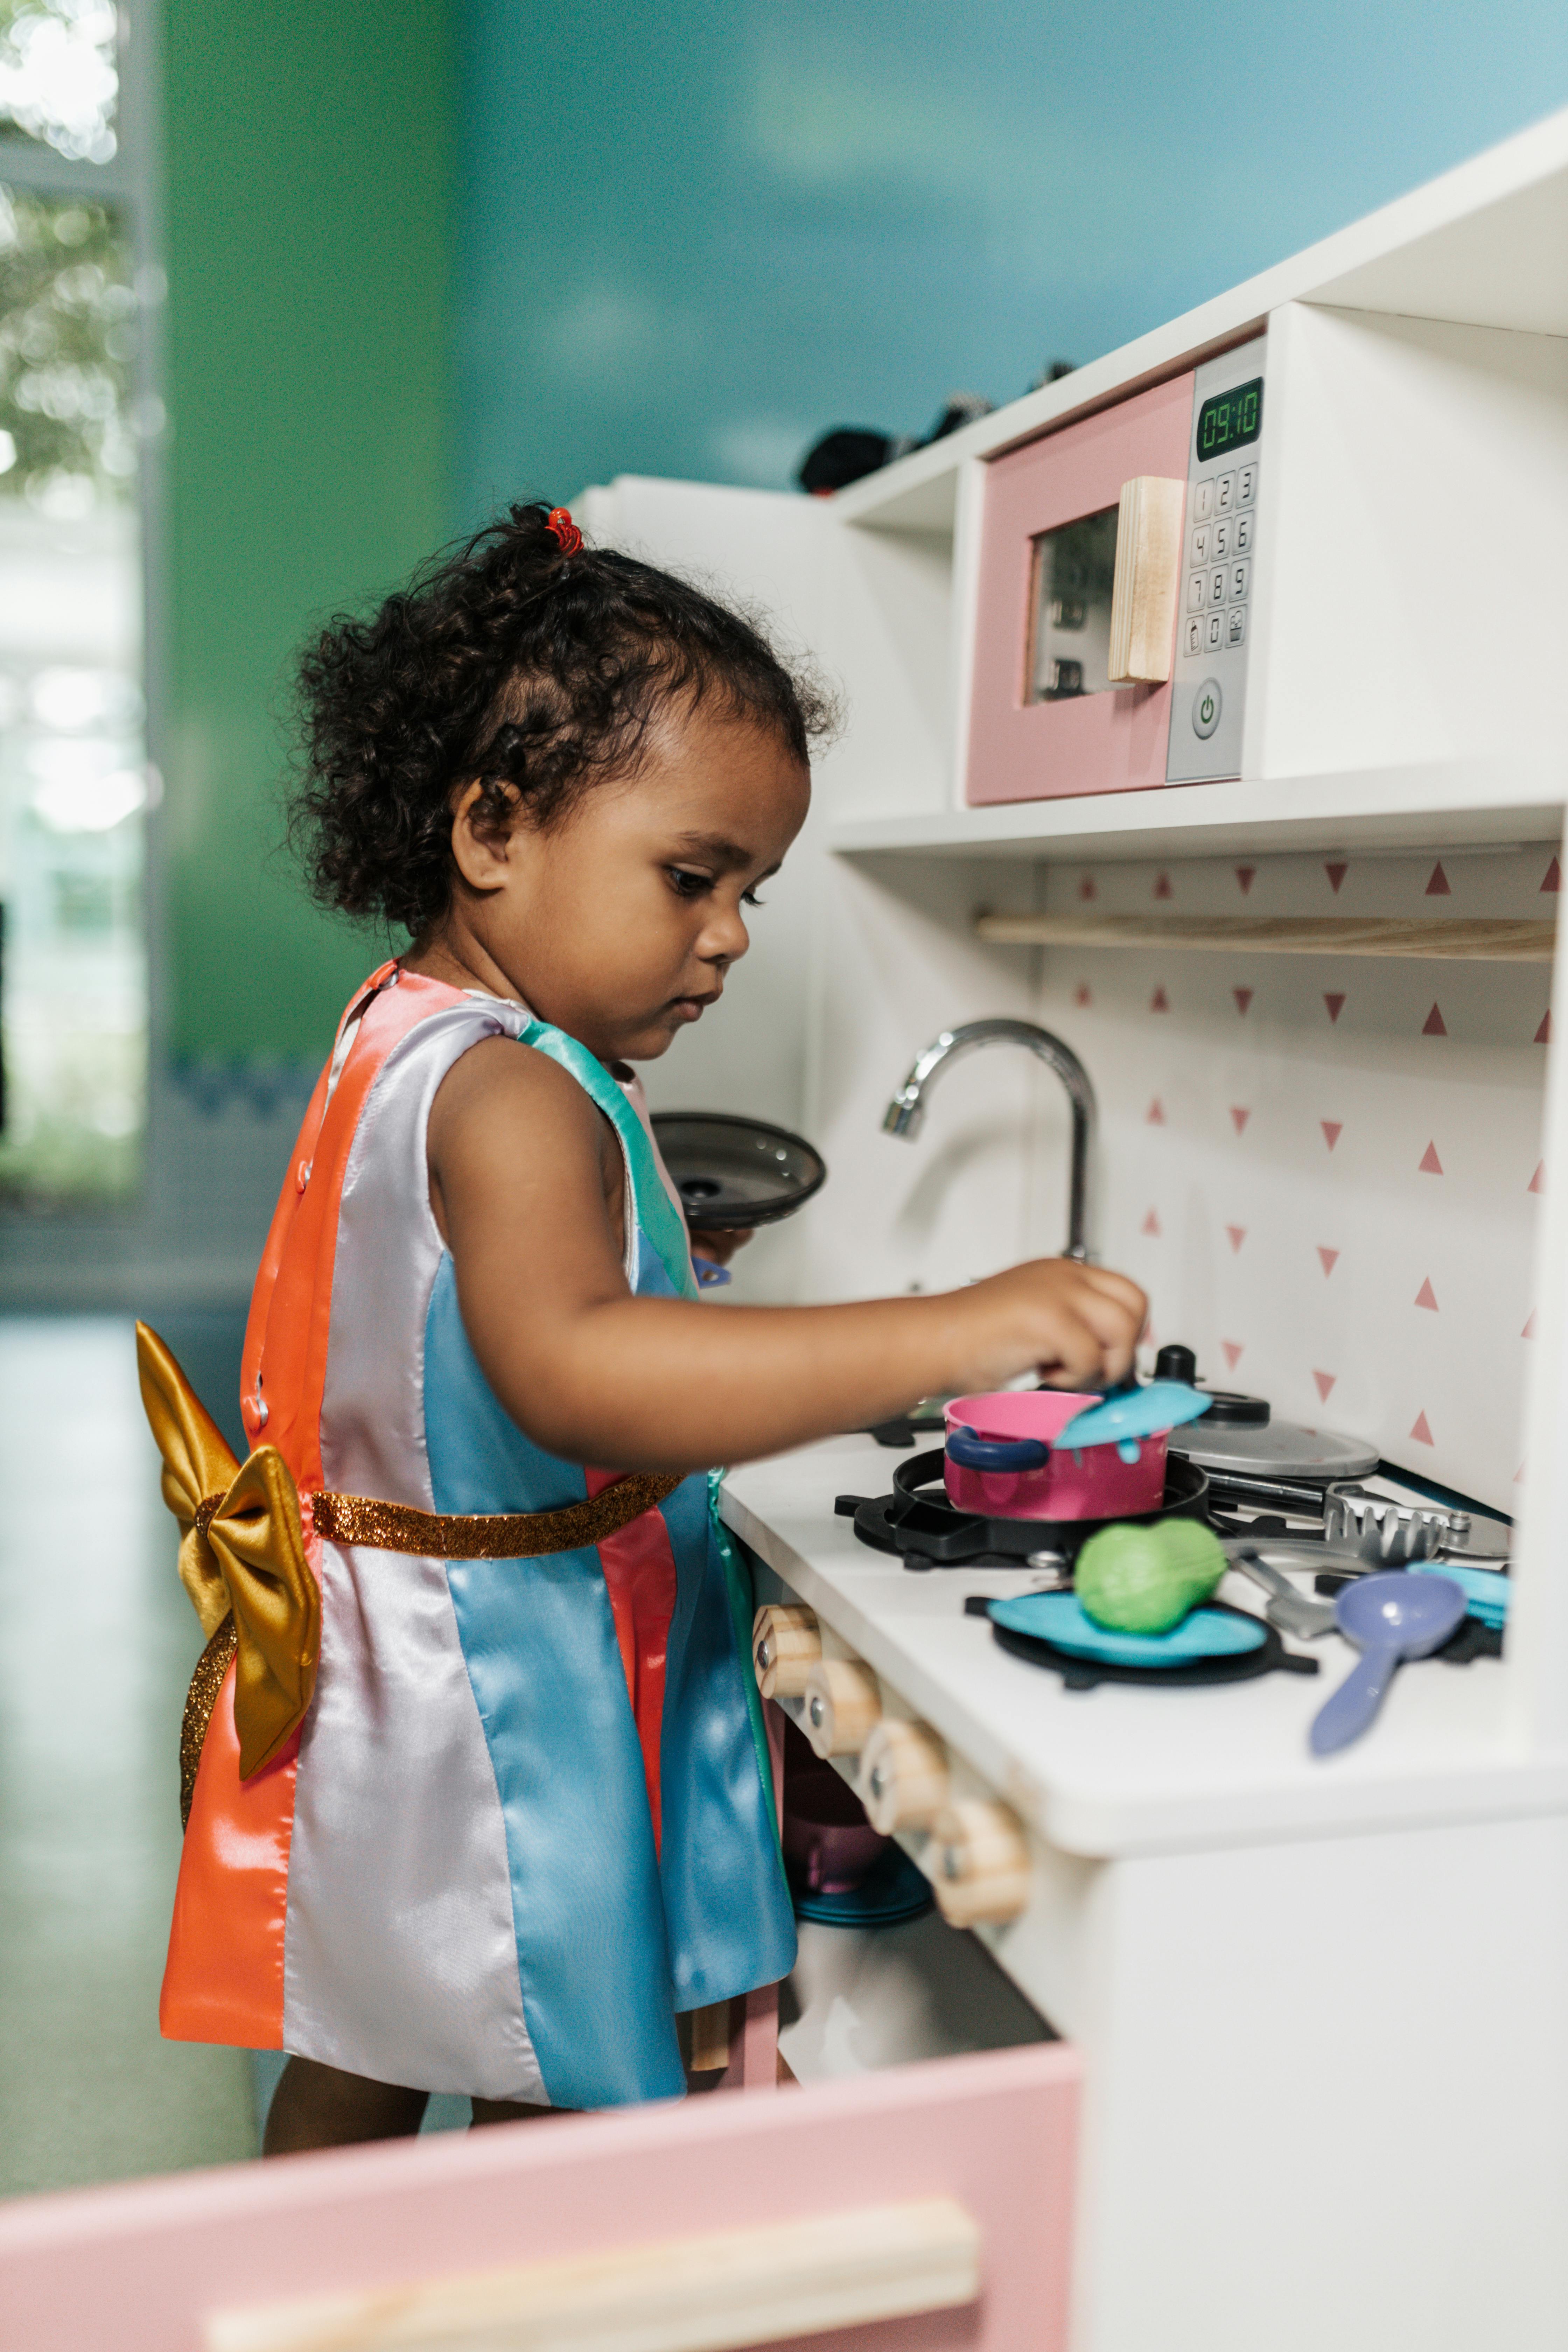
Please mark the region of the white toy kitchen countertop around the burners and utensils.
<svg viewBox="0 0 1568 2352"><path fill-rule="evenodd" d="M1314 1677L1065 1691L964 1616L966 1595L1025 1592L1030 1571L914 1573L835 1517L835 1496L886 1494L903 1458L870 1437L832 1437L748 1463L724 1482L724 1519L1053 1846L1157 1853L1568 1811L1568 1766L1519 1752L1493 1658L1403 1668L1373 1731L1328 1759L1309 1755L1307 1724L1352 1668L1338 1635L1291 1644L1321 1661ZM1262 1613L1239 1576L1220 1597Z"/></svg>

